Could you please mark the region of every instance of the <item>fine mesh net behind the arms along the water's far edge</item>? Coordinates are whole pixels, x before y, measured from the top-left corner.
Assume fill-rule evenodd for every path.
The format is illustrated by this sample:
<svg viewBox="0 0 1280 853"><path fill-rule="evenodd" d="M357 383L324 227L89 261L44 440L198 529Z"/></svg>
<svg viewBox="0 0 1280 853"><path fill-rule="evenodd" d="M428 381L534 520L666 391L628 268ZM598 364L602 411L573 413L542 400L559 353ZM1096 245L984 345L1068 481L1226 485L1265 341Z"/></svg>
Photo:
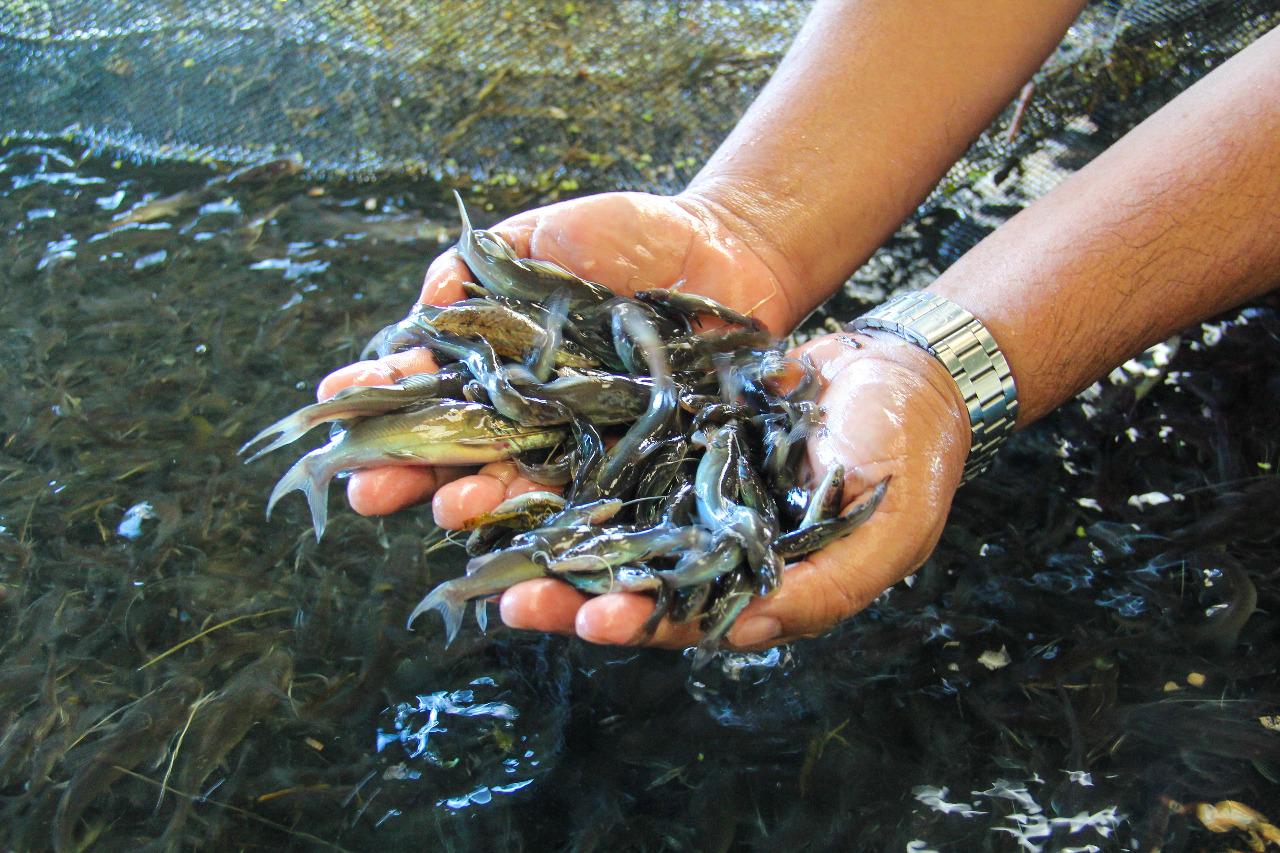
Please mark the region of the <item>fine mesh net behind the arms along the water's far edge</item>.
<svg viewBox="0 0 1280 853"><path fill-rule="evenodd" d="M0 129L138 159L296 156L321 177L673 191L808 8L4 0ZM1256 0L1093 4L932 205L993 173L1018 177L1002 201L1043 192L1277 20Z"/></svg>

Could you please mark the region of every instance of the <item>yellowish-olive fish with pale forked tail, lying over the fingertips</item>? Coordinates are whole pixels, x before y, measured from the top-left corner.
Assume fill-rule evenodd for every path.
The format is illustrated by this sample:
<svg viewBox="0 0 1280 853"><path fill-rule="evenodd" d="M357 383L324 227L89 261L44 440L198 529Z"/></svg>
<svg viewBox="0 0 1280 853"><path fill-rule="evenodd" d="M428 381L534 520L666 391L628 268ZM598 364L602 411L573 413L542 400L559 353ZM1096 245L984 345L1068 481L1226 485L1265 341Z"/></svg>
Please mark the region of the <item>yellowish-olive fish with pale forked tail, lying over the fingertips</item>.
<svg viewBox="0 0 1280 853"><path fill-rule="evenodd" d="M416 411L358 420L293 464L271 491L275 503L293 491L307 496L316 539L328 519L325 492L339 471L378 465L484 465L553 447L564 428L522 426L480 403L436 402Z"/></svg>

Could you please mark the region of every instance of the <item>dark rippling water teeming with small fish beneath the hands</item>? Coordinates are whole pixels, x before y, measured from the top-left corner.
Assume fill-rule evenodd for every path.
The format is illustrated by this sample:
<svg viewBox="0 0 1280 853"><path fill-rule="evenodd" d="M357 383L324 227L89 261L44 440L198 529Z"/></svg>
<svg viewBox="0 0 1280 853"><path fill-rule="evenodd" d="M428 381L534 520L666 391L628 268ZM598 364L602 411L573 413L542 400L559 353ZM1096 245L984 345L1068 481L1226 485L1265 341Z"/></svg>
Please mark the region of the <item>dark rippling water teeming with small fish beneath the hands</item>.
<svg viewBox="0 0 1280 853"><path fill-rule="evenodd" d="M1274 305L1020 435L851 624L686 684L406 631L461 569L425 511L264 520L284 461L236 448L453 223L429 186L211 177L0 149L3 847L1178 850L1249 841L1194 803L1280 816Z"/></svg>

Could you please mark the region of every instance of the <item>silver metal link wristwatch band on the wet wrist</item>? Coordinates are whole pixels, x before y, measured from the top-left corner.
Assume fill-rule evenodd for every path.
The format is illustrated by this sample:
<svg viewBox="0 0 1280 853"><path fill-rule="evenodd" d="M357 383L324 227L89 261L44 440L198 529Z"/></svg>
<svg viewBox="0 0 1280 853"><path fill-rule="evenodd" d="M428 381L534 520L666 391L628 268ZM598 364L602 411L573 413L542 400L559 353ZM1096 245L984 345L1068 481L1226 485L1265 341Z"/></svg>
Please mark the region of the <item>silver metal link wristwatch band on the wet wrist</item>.
<svg viewBox="0 0 1280 853"><path fill-rule="evenodd" d="M1018 389L996 339L973 314L951 300L911 291L876 306L845 328L892 332L941 361L960 387L973 429L961 483L991 466L996 451L1014 432Z"/></svg>

